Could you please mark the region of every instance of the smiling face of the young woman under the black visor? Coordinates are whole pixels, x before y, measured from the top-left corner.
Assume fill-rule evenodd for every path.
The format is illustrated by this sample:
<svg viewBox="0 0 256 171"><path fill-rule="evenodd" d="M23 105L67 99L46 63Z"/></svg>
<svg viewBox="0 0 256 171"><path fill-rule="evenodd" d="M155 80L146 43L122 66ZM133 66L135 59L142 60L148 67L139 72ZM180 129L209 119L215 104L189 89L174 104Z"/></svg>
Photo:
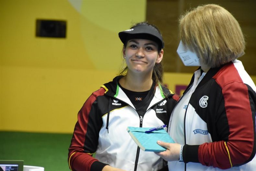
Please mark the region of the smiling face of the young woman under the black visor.
<svg viewBox="0 0 256 171"><path fill-rule="evenodd" d="M163 58L163 50L157 51L156 42L144 39L132 39L123 49L128 73L151 73L156 63L160 63Z"/></svg>

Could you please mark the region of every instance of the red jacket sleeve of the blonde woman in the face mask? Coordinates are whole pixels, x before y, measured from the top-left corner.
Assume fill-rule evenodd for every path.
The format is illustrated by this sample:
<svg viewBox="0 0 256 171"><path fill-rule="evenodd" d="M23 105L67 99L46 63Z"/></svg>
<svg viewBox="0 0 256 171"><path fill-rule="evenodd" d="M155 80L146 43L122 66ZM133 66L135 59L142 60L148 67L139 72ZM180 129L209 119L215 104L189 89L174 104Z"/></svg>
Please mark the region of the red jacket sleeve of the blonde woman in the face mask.
<svg viewBox="0 0 256 171"><path fill-rule="evenodd" d="M216 81L222 88L225 108L221 114L223 118L215 124L227 128L228 134L225 137L224 131L220 131L220 137L225 137L223 141L201 144L198 159L203 165L227 169L245 164L255 155L255 105L242 81L222 85L222 79ZM227 80L225 82L228 83ZM224 117L228 125L224 125Z"/></svg>

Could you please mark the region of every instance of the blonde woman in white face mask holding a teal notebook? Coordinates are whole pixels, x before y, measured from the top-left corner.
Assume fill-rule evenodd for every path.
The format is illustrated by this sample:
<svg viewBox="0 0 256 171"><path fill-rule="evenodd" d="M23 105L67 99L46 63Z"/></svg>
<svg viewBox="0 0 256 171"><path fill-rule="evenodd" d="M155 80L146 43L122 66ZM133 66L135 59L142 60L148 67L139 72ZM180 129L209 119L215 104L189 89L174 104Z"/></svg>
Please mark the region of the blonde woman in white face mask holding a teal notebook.
<svg viewBox="0 0 256 171"><path fill-rule="evenodd" d="M176 143L157 153L169 170L255 170L256 87L241 61L245 40L223 7L198 6L180 19L178 54L200 66L174 108L169 134Z"/></svg>

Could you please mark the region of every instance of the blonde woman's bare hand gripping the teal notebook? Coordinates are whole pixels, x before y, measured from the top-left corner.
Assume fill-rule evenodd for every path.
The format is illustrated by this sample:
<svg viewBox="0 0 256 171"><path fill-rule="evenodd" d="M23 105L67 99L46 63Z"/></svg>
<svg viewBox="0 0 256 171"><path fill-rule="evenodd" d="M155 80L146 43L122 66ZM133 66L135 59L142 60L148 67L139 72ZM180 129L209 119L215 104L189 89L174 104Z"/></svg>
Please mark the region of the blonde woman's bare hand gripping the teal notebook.
<svg viewBox="0 0 256 171"><path fill-rule="evenodd" d="M166 148L164 152L155 152L157 155L162 157L165 161L178 161L180 158L180 144L177 143L164 143L157 141L157 144Z"/></svg>

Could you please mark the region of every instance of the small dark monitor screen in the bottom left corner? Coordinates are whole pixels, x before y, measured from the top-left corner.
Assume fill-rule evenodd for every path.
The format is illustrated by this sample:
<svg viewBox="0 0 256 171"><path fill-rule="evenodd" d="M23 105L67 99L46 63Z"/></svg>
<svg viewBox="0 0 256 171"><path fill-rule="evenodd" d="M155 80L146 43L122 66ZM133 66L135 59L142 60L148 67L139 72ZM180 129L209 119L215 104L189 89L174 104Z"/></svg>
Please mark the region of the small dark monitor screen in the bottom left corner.
<svg viewBox="0 0 256 171"><path fill-rule="evenodd" d="M0 160L0 171L23 171L23 160Z"/></svg>

